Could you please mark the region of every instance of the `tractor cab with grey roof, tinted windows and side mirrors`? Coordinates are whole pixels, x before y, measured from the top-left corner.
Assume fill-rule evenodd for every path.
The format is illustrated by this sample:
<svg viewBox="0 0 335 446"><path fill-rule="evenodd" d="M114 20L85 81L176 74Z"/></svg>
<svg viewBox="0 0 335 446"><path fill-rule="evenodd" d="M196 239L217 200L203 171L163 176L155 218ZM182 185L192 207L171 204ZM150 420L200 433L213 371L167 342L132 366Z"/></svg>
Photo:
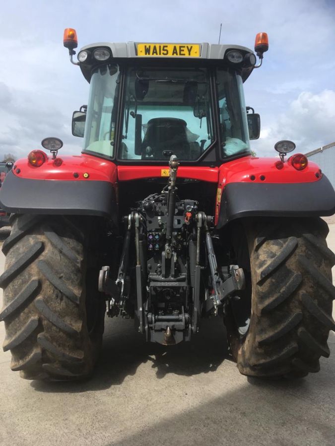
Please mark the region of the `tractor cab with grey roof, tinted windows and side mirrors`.
<svg viewBox="0 0 335 446"><path fill-rule="evenodd" d="M171 155L220 165L250 154L250 137L259 137L259 115L247 115L243 94L256 64L248 48L104 43L84 47L73 63L90 83L72 122L84 153L119 165L161 165Z"/></svg>

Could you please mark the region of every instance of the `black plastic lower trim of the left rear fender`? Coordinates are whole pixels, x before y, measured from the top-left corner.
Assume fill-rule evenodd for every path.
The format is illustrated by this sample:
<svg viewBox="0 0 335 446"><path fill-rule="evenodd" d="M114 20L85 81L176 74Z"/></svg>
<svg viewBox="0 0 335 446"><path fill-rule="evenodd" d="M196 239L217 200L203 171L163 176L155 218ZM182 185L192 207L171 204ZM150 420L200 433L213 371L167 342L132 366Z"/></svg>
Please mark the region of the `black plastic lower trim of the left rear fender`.
<svg viewBox="0 0 335 446"><path fill-rule="evenodd" d="M39 180L9 172L1 187L0 207L14 214L91 215L117 223L115 189L108 181Z"/></svg>

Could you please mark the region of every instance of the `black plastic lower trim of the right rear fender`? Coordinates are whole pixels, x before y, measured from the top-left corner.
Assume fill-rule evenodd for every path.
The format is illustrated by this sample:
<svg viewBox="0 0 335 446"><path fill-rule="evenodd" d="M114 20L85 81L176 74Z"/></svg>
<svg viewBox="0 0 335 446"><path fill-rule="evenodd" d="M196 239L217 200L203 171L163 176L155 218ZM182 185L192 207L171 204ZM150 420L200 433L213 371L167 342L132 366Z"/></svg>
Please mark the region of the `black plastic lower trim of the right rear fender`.
<svg viewBox="0 0 335 446"><path fill-rule="evenodd" d="M324 175L311 183L229 183L217 228L241 217L325 217L335 213L335 191Z"/></svg>

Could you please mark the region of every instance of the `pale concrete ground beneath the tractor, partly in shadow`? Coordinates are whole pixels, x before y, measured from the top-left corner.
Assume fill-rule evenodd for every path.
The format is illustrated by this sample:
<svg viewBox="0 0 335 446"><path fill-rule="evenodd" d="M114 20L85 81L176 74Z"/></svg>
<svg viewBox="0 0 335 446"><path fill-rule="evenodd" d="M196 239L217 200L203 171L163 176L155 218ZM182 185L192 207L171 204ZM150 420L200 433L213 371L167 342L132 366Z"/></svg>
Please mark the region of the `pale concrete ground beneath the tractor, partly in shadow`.
<svg viewBox="0 0 335 446"><path fill-rule="evenodd" d="M321 372L277 382L248 379L224 359L218 320L167 349L145 344L133 321L106 322L103 359L87 382L22 380L0 352L0 445L335 444L334 332Z"/></svg>

